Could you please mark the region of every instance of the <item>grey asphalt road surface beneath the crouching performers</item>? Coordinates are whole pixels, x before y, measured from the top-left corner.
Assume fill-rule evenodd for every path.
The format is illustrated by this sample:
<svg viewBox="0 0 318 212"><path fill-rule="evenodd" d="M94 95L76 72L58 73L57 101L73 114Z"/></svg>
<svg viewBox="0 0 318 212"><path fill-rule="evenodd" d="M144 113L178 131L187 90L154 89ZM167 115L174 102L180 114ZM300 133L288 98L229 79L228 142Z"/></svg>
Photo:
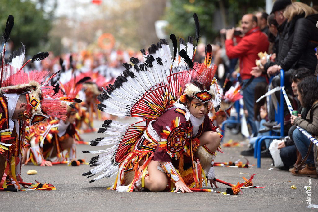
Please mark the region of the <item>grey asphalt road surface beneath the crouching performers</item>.
<svg viewBox="0 0 318 212"><path fill-rule="evenodd" d="M131 122L130 120L121 120ZM101 122L96 122L99 127ZM85 141L90 141L101 134L82 134ZM225 132L223 142L233 139L244 141L240 135ZM244 142L242 142L244 143ZM82 150L92 150L96 147L77 145L77 157L91 156L82 153ZM240 147L223 147L225 154L218 153L215 162L228 162L240 159ZM89 165L82 164L77 167L66 164L53 167L39 167L28 164L22 167L21 175L25 182L48 182L56 187L53 191L20 191L0 192L0 211L314 211L318 209L307 208L308 194L304 186L311 183L312 204L318 204L318 180L309 177L292 176L288 171L282 171L271 166L272 159L263 158L261 168L257 168L256 159L247 156L252 168L215 167L216 178L232 184L244 182L243 176L249 179L255 175L254 185L266 186L263 189L242 189L243 195L223 195L220 193L194 192L117 192L106 190L114 183L114 178L103 178L88 183L91 178L82 176L90 170ZM244 158L241 158L245 162ZM36 169L38 174L27 175L29 169ZM291 182L287 182L291 181ZM291 189L292 185L296 189ZM217 191L223 191L228 186L218 183ZM210 185L209 185L210 187Z"/></svg>

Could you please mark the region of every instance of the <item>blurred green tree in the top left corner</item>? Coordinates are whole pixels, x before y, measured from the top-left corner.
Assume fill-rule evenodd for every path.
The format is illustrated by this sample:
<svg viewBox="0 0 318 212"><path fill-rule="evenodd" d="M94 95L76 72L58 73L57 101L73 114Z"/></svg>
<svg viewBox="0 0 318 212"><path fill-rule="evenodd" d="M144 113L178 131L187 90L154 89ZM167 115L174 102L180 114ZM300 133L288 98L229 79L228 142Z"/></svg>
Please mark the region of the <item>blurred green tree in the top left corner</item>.
<svg viewBox="0 0 318 212"><path fill-rule="evenodd" d="M32 55L44 51L43 46L48 41L51 21L44 18L43 9L36 9L34 1L30 0L2 0L0 6L0 30L4 31L9 15L14 17L14 26L10 40L14 49L26 45L27 54Z"/></svg>

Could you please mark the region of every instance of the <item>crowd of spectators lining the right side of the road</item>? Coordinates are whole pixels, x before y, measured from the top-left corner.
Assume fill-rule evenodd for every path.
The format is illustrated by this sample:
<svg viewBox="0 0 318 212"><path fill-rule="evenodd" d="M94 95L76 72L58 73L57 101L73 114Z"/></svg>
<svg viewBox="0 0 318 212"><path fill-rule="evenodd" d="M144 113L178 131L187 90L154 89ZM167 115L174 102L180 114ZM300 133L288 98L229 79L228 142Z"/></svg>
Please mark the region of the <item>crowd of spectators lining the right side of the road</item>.
<svg viewBox="0 0 318 212"><path fill-rule="evenodd" d="M241 155L254 154L258 136L276 133L282 137L278 149L283 165L279 168L295 176L315 178L317 147L297 126L318 137L317 21L318 12L308 4L276 0L271 14L245 14L240 27L220 30L220 42L212 47L214 63L221 67L218 80L224 82L230 73L232 81L243 82L241 93L252 135L249 148ZM280 84L280 70L284 72L284 85ZM285 102L281 123L275 116L280 114L280 86L284 86L293 110L297 111L291 115ZM263 98L256 103L275 88L278 89L270 101ZM281 124L284 132L280 132ZM265 140L262 156L271 156L271 142Z"/></svg>

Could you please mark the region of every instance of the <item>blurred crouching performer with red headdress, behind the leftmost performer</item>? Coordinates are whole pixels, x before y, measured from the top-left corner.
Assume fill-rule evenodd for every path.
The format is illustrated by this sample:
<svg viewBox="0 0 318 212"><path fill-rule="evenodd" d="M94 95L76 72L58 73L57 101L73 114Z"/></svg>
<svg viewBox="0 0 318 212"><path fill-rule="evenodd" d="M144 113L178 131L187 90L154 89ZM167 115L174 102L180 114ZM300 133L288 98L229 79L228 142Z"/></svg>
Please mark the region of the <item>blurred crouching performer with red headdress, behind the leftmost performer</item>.
<svg viewBox="0 0 318 212"><path fill-rule="evenodd" d="M30 148L26 151L25 164L31 160L35 165L52 166L51 162L71 162L76 159L75 141L79 141L80 137L79 129L75 126L78 110L74 105L82 102L76 97L83 83L89 79L87 77L76 81L76 78L72 78L55 86L58 88L60 85L66 96L60 98L67 105L66 119L50 116L47 122L29 127L27 139Z"/></svg>

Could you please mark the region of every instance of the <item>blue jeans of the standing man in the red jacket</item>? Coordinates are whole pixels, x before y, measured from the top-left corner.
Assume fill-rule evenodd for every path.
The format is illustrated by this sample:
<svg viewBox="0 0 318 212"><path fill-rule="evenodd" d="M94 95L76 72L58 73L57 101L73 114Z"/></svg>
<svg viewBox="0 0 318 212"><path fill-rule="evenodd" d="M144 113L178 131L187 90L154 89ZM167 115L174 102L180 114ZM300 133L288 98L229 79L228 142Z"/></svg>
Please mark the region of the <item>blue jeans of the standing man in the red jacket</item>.
<svg viewBox="0 0 318 212"><path fill-rule="evenodd" d="M247 83L248 80L243 80L244 84ZM266 82L266 78L263 76L257 77L253 79L252 83L249 84L244 90L243 90L243 100L244 100L244 105L245 108L248 111L248 117L247 120L251 124L254 136L257 136L257 128L254 123L254 104L255 104L255 99L254 99L254 93L255 93L255 86L260 83L260 82ZM243 85L244 86L244 85Z"/></svg>

